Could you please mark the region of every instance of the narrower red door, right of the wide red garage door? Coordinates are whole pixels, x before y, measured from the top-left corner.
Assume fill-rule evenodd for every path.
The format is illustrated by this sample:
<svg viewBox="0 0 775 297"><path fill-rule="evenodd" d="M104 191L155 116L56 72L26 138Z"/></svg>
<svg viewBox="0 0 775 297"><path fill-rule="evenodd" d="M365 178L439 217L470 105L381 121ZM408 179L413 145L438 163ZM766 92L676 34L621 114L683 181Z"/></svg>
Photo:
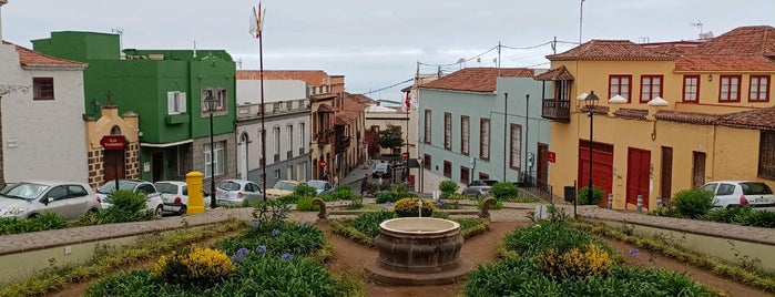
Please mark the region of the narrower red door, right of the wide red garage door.
<svg viewBox="0 0 775 297"><path fill-rule="evenodd" d="M643 208L649 208L649 180L651 152L630 147L628 150L626 203L636 205L638 195L643 196Z"/></svg>

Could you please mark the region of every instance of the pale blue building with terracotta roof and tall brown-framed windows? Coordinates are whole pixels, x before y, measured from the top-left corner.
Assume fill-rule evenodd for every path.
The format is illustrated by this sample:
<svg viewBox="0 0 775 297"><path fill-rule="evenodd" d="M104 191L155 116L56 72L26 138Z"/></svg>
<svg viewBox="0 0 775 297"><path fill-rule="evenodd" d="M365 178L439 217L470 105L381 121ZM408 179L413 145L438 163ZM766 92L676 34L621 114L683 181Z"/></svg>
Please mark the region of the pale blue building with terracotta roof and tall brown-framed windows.
<svg viewBox="0 0 775 297"><path fill-rule="evenodd" d="M517 182L545 160L530 157L549 146L549 122L540 119L542 84L536 70L469 68L418 86L422 192L445 180ZM542 164L538 164L543 162Z"/></svg>

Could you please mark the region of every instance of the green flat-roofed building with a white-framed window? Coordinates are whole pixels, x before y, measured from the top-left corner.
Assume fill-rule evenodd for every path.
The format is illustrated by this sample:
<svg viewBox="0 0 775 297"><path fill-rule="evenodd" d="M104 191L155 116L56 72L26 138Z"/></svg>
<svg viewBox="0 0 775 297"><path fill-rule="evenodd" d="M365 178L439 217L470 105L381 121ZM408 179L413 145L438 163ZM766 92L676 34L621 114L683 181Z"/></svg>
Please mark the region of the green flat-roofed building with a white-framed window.
<svg viewBox="0 0 775 297"><path fill-rule="evenodd" d="M119 106L140 115L140 176L146 181L183 180L191 171L211 176L210 121L204 99L212 95L216 181L236 175L235 73L223 50L121 51L118 34L52 32L32 41L35 51L89 63L83 72L86 111ZM126 156L132 157L132 156ZM125 168L124 172L132 168Z"/></svg>

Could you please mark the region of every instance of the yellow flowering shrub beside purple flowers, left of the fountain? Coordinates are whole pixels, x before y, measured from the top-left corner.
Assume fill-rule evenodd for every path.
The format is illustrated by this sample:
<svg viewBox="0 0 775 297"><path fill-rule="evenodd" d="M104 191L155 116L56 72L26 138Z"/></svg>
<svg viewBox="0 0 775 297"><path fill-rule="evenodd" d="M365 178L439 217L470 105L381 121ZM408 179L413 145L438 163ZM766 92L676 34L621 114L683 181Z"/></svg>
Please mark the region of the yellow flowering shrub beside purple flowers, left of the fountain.
<svg viewBox="0 0 775 297"><path fill-rule="evenodd" d="M151 276L170 284L211 286L234 273L232 259L221 250L194 246L184 253L161 256Z"/></svg>

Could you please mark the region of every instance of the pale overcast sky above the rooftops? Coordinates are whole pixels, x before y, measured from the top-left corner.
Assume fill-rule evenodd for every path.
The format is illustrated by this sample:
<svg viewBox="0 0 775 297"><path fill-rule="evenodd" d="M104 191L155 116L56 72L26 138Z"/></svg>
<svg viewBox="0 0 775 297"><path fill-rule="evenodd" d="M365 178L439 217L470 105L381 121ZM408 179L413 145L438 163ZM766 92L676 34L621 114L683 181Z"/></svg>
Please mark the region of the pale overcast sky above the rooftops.
<svg viewBox="0 0 775 297"><path fill-rule="evenodd" d="M128 49L223 49L258 69L258 41L248 34L257 1L9 0L2 7L7 41L31 48L51 31L123 29ZM324 70L345 75L351 93L378 90L421 73L493 66L549 68L547 43L579 42L580 0L265 0L264 69ZM742 25L775 25L775 0L587 0L581 39L633 42L694 40ZM558 52L573 47L559 43ZM487 53L486 53L487 52ZM473 60L481 55L481 63ZM428 65L426 65L428 64ZM451 64L451 65L450 65ZM237 65L239 68L239 64ZM369 94L398 99L402 83Z"/></svg>

